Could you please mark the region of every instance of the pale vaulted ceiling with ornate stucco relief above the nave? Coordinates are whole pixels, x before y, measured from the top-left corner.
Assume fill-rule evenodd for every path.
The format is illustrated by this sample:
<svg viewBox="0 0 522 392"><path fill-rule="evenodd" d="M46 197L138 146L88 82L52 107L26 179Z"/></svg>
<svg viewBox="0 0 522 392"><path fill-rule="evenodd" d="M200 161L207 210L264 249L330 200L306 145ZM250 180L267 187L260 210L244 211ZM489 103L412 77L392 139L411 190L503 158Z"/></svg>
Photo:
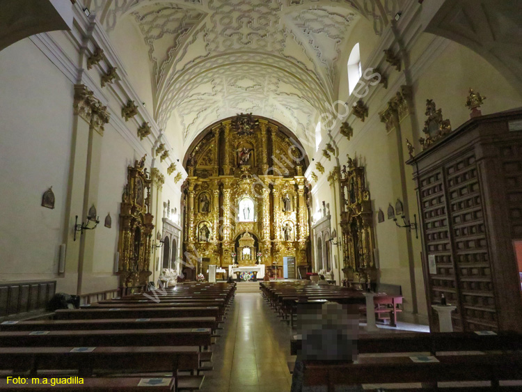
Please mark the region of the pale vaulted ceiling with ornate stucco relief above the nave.
<svg viewBox="0 0 522 392"><path fill-rule="evenodd" d="M334 98L343 42L361 17L376 32L393 10L376 0L90 0L109 36L122 18L148 47L155 118L185 148L208 125L251 112L313 146ZM391 1L390 3L395 3Z"/></svg>

